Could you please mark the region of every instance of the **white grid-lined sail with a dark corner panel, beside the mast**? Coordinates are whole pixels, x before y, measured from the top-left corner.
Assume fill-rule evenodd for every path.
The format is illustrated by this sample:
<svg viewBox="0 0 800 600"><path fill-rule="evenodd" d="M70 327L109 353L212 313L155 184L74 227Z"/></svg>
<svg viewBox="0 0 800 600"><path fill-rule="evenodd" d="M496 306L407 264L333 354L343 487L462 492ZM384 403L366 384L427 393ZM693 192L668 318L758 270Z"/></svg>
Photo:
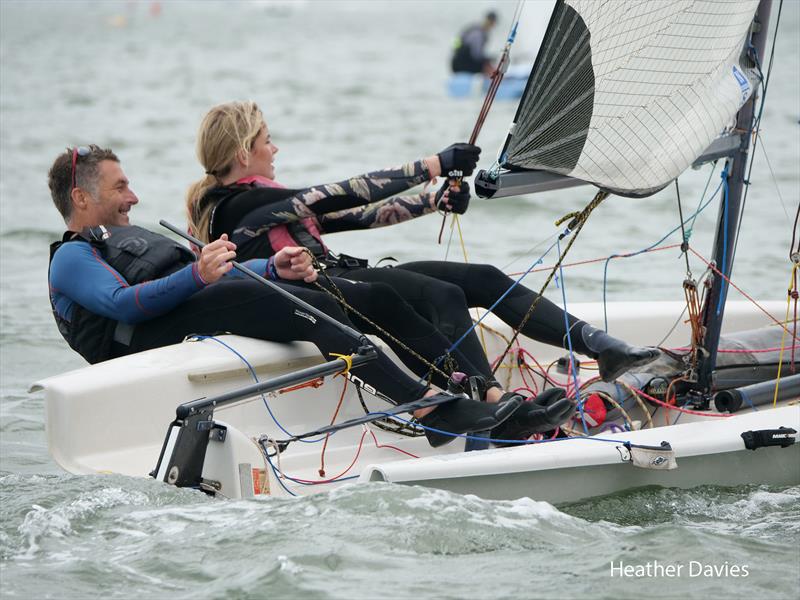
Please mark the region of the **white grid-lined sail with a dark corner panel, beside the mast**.
<svg viewBox="0 0 800 600"><path fill-rule="evenodd" d="M658 191L755 88L758 0L559 0L501 166L627 195Z"/></svg>

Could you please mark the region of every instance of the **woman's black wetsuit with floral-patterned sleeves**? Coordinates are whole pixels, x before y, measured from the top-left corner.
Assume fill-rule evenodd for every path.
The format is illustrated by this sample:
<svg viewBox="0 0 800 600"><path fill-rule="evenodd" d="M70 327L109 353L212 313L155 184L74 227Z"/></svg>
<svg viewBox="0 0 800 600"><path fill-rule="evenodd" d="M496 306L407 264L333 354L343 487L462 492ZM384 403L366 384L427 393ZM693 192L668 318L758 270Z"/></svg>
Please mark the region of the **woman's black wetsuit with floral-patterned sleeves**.
<svg viewBox="0 0 800 600"><path fill-rule="evenodd" d="M237 252L242 259L263 258L277 251L270 241L270 232L276 228L288 225L289 229L302 230L304 235L295 236L293 243L312 248L320 260L330 265L326 273L333 276L333 283L345 300L433 362L472 327L468 309L489 308L513 280L491 265L445 261L413 262L394 268L369 268L356 262L348 265L348 261L336 260L319 237L334 231L380 227L433 212L433 192L391 195L419 184L422 175L424 169L418 161L300 191L262 187L258 183L234 184L210 190L201 205L215 207L209 227L211 239L228 233L239 245ZM313 202L308 202L309 198ZM387 213L394 218L381 220L380 215ZM310 245L306 243L308 238L313 238ZM320 280L324 282L325 278ZM369 287L364 287L367 283ZM537 297L535 292L517 285L494 312L508 325L517 327ZM362 331L377 333L357 316L352 318ZM577 335L583 322L569 314L566 319L575 334L575 351L594 357ZM565 331L564 311L542 298L522 333L565 347ZM422 376L428 372L423 363L385 336L384 341L415 373ZM453 358L458 370L491 377L491 367L474 331L460 342ZM445 383L437 378L434 381L440 386Z"/></svg>

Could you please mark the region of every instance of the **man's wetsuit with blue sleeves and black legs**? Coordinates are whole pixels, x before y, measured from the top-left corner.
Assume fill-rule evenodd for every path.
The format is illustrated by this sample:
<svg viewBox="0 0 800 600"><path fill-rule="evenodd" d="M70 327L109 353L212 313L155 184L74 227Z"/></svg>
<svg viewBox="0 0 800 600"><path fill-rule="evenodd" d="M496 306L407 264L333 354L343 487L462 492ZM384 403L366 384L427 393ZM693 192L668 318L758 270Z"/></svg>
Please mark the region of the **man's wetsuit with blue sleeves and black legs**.
<svg viewBox="0 0 800 600"><path fill-rule="evenodd" d="M147 253L139 257L146 258ZM179 261L178 257L176 261ZM264 261L256 262L261 263L263 272ZM349 354L358 346L358 341L351 336L327 321L309 315L265 285L242 279L235 272L206 285L195 275L194 263L183 264L178 262L176 269L161 265L164 272L171 274L139 281L130 275L130 267L125 266L125 261L106 256L102 249L94 248L83 239L60 244L51 256L49 273L51 301L57 320L73 325L76 309L80 308L85 317L94 313L98 320L111 321L112 325L120 318L131 324L132 331L125 343L111 339L115 331L113 326L95 328L97 347L110 350L107 354L92 356L82 352L91 362L176 344L191 334L219 332L273 342L309 341L319 348L326 360L330 360L332 352ZM126 279L125 274L131 279ZM284 280L278 284L293 285ZM352 327L328 294L294 287L292 291L302 300ZM126 310L126 303L136 304L142 314ZM128 314L132 316L124 316ZM86 318L81 322L85 324ZM59 330L64 334L68 327L60 326ZM78 335L78 332L73 333ZM92 345L90 339L83 342L84 348ZM353 373L397 403L416 400L427 389L381 352L377 359L354 368Z"/></svg>

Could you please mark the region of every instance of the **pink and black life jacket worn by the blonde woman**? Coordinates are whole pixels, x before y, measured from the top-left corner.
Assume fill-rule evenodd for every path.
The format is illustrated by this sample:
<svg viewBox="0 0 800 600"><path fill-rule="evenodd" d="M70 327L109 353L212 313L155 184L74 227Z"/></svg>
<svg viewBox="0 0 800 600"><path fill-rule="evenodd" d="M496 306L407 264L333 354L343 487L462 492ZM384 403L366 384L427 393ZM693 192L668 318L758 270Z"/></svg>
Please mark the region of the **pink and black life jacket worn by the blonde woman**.
<svg viewBox="0 0 800 600"><path fill-rule="evenodd" d="M225 231L220 231L219 222L222 219L215 219L222 214L224 207L228 211L228 218L224 219L227 222L236 221L239 219L230 219L230 213L238 213L239 217L243 217L250 210L254 210L257 206L245 206L236 202L236 197L248 187L263 187L273 188L275 190L274 202L285 200L290 196L294 196L300 190L291 190L282 186L277 181L267 179L255 175L252 177L245 177L239 179L231 186L226 186L228 193L216 204L211 213L209 220L209 237L210 239L217 239ZM239 238L246 238L244 243L237 240L238 249L237 254L240 259L247 260L249 258L266 258L277 253L281 248L286 246L304 246L308 248L311 253L320 261L328 258L328 248L322 241L322 233L319 230L319 223L314 217L306 217L292 223L282 223L280 225L273 225L269 228L262 228L251 230L246 228L239 228L234 231L227 232L235 234Z"/></svg>

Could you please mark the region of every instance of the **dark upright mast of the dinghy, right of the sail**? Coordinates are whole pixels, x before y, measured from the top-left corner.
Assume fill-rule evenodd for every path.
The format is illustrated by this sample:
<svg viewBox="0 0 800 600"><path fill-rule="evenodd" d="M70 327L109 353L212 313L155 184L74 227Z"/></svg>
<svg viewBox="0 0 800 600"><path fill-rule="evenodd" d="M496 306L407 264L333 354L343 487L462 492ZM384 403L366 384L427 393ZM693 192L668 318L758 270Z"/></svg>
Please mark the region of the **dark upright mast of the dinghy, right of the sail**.
<svg viewBox="0 0 800 600"><path fill-rule="evenodd" d="M751 29L750 43L757 53L759 61L763 61L764 49L767 41L767 28L772 0L761 0L756 10ZM717 232L714 240L712 264L716 265L724 275L716 274L713 278L711 289L706 294L706 303L703 307L702 326L703 337L697 363L697 381L690 387L690 393L699 395L698 404L707 407L712 389L712 373L717 362L717 349L719 336L722 329L722 319L725 313L725 300L728 285L733 270L733 252L736 246L736 230L742 209L742 197L745 190L745 168L750 151L750 137L747 132L755 114L756 93L750 96L747 103L739 110L736 119L736 129L743 132L741 145L728 160L728 194L727 207L723 201L720 205L717 218Z"/></svg>

